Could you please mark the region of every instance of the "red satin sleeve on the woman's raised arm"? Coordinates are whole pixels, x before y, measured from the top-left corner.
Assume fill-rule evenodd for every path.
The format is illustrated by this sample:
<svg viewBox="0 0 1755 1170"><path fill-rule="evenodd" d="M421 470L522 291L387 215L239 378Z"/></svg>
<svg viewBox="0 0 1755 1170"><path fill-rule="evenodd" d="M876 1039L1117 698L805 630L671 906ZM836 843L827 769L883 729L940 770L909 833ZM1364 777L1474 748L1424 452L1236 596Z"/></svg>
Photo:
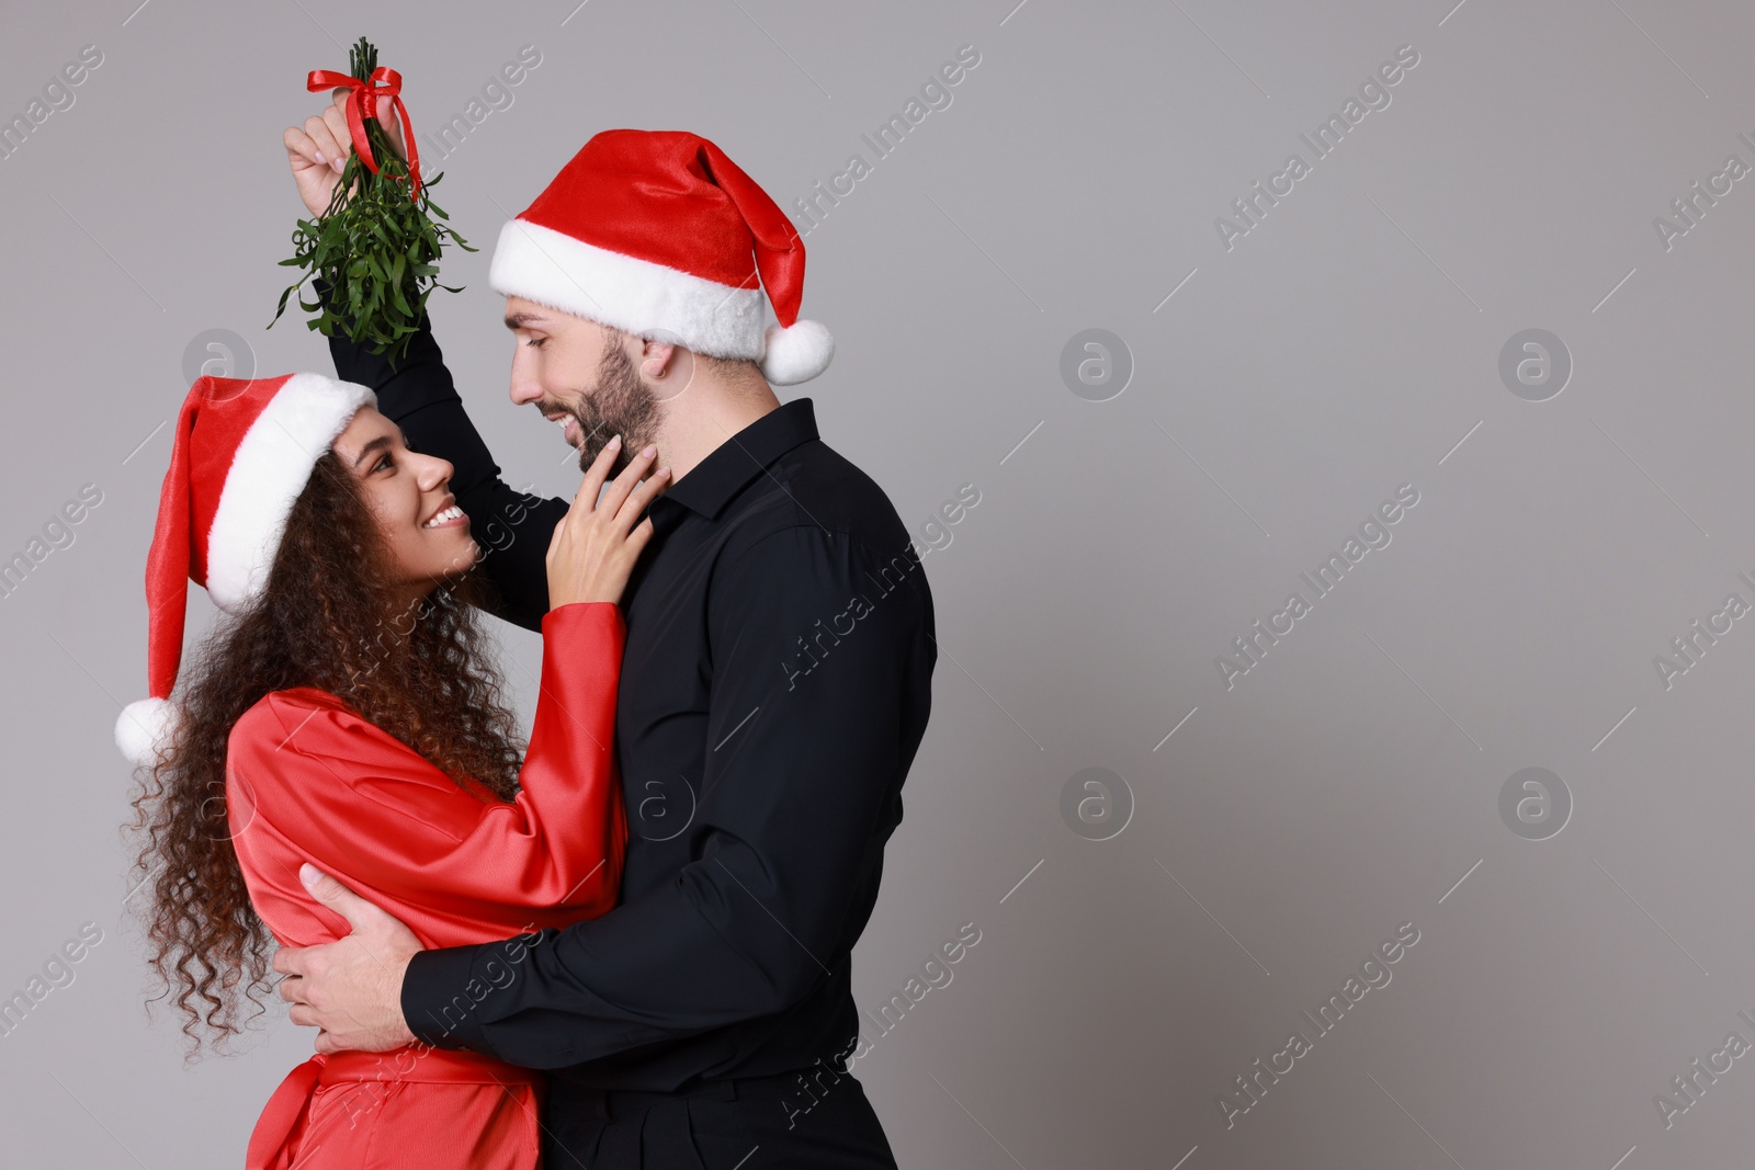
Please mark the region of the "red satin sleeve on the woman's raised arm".
<svg viewBox="0 0 1755 1170"><path fill-rule="evenodd" d="M625 635L611 602L542 619L542 681L514 802L463 791L390 733L298 691L269 695L237 723L228 784L247 789L263 838L284 838L393 914L595 917L616 902L627 845L611 751ZM256 844L249 837L246 826L240 860Z"/></svg>

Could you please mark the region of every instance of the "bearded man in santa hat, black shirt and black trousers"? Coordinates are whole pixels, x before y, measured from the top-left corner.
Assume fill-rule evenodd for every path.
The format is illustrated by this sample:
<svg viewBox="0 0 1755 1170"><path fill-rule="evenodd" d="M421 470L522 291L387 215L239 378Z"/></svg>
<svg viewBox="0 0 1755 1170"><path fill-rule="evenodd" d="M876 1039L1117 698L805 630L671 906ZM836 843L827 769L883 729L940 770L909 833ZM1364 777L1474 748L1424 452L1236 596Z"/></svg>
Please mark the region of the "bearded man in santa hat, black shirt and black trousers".
<svg viewBox="0 0 1755 1170"><path fill-rule="evenodd" d="M349 151L339 96L286 147L323 214ZM779 317L765 332L758 274ZM549 1166L895 1165L844 1072L849 952L927 724L932 595L890 500L818 439L809 398L781 405L769 384L832 354L795 321L802 279L786 216L684 132L593 137L504 226L490 282L516 337L512 402L560 423L581 467L620 433L676 477L623 602L620 900L562 931L421 951L312 874L353 935L276 956L319 1051L419 1042L549 1070ZM330 349L455 465L495 612L539 628L567 503L500 481L430 328L395 367Z"/></svg>

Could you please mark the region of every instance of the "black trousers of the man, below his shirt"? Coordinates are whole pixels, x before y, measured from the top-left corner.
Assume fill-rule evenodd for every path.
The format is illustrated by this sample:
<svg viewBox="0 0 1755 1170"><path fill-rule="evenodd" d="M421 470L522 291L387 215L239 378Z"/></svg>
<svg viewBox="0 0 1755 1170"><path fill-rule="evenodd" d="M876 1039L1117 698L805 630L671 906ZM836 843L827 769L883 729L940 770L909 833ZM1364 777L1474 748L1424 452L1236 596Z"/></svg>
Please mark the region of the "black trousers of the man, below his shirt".
<svg viewBox="0 0 1755 1170"><path fill-rule="evenodd" d="M544 1109L542 1166L895 1170L895 1156L860 1082L818 1068L679 1093L556 1082Z"/></svg>

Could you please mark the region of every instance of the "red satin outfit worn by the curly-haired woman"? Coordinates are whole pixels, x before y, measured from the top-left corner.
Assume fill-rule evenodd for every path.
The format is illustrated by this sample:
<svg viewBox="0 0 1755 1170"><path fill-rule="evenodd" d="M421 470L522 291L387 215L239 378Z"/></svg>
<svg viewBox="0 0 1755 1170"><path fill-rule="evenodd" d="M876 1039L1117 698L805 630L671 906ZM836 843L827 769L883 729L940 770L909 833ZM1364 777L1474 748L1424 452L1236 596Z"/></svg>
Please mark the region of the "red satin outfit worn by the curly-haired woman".
<svg viewBox="0 0 1755 1170"><path fill-rule="evenodd" d="M311 861L425 947L565 926L616 902L627 847L611 742L627 628L611 602L542 619L521 791L451 777L326 691L256 702L232 728L226 817L251 903L283 945L347 933L298 881ZM491 995L491 991L490 991ZM276 1089L249 1170L534 1170L539 1074L462 1051L312 1056Z"/></svg>

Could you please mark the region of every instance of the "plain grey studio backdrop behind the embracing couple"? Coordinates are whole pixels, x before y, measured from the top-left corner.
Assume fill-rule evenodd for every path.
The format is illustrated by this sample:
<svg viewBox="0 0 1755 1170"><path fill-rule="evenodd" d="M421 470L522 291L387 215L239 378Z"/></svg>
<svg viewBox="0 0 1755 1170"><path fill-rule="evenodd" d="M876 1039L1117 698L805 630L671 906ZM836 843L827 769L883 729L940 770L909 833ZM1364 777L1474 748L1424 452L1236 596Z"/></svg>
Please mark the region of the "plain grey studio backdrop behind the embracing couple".
<svg viewBox="0 0 1755 1170"><path fill-rule="evenodd" d="M240 1165L309 1052L274 1010L246 1054L184 1068L174 1021L142 1016L111 726L146 693L184 346L228 328L260 374L330 368L302 319L261 328L302 214L279 137L362 33L423 149L542 53L442 163L483 251L448 254L467 291L432 303L509 479L551 493L572 461L505 400L502 219L611 126L704 133L790 210L872 161L860 133L958 46L981 54L807 237L804 310L839 353L781 388L916 531L981 493L927 558L934 717L855 965L876 1009L981 930L855 1068L902 1165L1748 1165L1755 1061L1667 1130L1653 1098L1755 1040L1755 623L1669 689L1653 658L1727 593L1755 602L1755 179L1669 251L1653 218L1727 154L1755 163L1755 16L1014 4L7 5L7 118L104 53L0 161L0 551L104 491L0 600L0 991L104 930L0 1037L7 1165ZM1214 218L1309 161L1297 135L1404 44L1392 103L1227 251ZM1132 354L1107 402L1060 377L1086 328ZM1525 328L1572 356L1546 402L1499 377ZM1227 689L1214 658L1404 482L1393 542ZM535 639L504 647L528 719ZM1109 840L1060 812L1092 767L1134 798ZM1527 767L1571 791L1548 840L1499 816ZM1402 923L1393 981L1227 1128L1220 1095Z"/></svg>

